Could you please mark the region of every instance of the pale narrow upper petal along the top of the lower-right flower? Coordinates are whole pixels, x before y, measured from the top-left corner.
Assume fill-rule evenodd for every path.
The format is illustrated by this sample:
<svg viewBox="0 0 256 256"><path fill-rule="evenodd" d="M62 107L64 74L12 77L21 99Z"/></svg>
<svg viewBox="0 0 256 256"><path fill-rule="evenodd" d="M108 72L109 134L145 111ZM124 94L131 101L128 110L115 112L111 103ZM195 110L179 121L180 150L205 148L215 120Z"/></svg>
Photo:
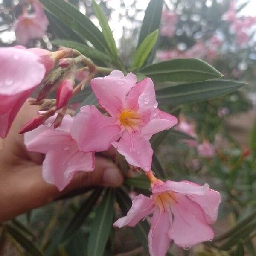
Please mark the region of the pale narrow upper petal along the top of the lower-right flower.
<svg viewBox="0 0 256 256"><path fill-rule="evenodd" d="M186 195L204 195L208 189L208 184L204 184L204 186L194 186L185 181L176 182L167 180L163 185L154 186L152 188L152 193L160 194L166 191L174 191Z"/></svg>

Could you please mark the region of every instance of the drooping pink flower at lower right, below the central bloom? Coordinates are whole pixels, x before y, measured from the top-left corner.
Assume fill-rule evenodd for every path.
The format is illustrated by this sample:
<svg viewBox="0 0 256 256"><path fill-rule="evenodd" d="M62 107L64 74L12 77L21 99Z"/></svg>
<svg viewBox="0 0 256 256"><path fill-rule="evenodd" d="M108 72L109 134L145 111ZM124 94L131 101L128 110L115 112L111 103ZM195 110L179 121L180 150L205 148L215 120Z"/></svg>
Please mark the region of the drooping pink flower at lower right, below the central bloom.
<svg viewBox="0 0 256 256"><path fill-rule="evenodd" d="M220 194L209 189L208 184L200 186L171 180L164 183L155 179L152 195L135 197L127 215L113 225L134 227L153 213L148 234L149 252L151 256L164 256L172 240L186 248L213 239L209 224L217 219L220 201Z"/></svg>

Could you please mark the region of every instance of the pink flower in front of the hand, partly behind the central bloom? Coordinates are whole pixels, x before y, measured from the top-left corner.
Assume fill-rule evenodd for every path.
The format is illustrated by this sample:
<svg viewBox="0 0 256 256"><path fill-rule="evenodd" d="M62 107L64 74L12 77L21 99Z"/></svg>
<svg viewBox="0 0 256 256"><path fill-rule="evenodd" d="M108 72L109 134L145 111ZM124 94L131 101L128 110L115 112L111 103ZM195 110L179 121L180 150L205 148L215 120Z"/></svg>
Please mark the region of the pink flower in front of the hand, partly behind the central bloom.
<svg viewBox="0 0 256 256"><path fill-rule="evenodd" d="M76 140L70 134L73 121L71 116L64 116L60 127L54 129L51 124L56 116L57 114L47 119L44 125L26 133L24 143L29 151L45 154L43 178L62 190L76 173L93 171L94 153L79 150Z"/></svg>

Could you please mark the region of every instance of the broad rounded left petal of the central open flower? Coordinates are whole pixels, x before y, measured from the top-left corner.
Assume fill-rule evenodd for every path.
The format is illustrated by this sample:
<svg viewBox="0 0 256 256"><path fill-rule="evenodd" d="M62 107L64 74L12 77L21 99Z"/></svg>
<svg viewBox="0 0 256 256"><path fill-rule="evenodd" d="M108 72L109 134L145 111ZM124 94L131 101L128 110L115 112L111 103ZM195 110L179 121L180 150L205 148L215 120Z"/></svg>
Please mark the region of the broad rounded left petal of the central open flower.
<svg viewBox="0 0 256 256"><path fill-rule="evenodd" d="M84 106L74 117L71 135L84 152L108 150L111 143L121 136L121 128L112 117L103 116L93 106Z"/></svg>

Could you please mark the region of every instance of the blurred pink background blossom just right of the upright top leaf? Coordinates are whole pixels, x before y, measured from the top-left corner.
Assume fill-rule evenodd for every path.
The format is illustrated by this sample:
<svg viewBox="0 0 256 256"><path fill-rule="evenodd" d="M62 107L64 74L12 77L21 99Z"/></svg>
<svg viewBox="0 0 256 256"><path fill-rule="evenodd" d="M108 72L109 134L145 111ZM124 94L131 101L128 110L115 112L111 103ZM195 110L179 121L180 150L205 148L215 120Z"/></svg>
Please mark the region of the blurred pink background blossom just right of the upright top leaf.
<svg viewBox="0 0 256 256"><path fill-rule="evenodd" d="M175 33L176 22L177 22L177 15L175 14L175 12L172 12L169 10L163 11L160 35L172 37Z"/></svg>

